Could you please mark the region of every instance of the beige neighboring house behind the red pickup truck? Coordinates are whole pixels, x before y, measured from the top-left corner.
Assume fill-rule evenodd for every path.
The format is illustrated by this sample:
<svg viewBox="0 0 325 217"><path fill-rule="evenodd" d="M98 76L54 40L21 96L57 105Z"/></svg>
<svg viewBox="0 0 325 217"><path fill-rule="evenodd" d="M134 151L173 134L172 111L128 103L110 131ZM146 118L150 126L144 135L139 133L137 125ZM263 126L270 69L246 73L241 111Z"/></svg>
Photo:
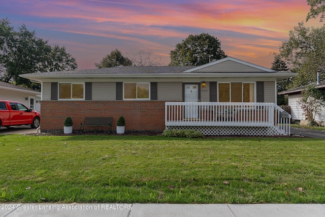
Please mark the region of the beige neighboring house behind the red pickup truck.
<svg viewBox="0 0 325 217"><path fill-rule="evenodd" d="M41 111L41 93L0 81L0 100L18 101L35 111Z"/></svg>

